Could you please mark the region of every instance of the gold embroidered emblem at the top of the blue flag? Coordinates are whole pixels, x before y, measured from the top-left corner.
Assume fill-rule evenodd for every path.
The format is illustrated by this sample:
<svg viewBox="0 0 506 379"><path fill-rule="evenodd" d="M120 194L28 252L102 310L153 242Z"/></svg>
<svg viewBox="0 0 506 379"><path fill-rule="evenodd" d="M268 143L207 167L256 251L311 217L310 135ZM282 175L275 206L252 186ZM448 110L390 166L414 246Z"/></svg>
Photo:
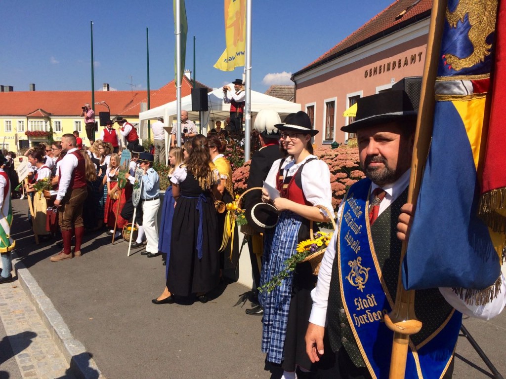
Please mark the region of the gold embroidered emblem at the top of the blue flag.
<svg viewBox="0 0 506 379"><path fill-rule="evenodd" d="M456 57L452 54L445 54L443 58L446 65L459 71L463 68L472 67L483 62L485 57L490 55L492 44L486 42L486 38L495 30L495 19L497 13L497 0L460 0L453 12L446 8L446 20L451 28L457 23L464 22L468 15L471 28L468 32L469 41L473 45L473 52L468 57Z"/></svg>

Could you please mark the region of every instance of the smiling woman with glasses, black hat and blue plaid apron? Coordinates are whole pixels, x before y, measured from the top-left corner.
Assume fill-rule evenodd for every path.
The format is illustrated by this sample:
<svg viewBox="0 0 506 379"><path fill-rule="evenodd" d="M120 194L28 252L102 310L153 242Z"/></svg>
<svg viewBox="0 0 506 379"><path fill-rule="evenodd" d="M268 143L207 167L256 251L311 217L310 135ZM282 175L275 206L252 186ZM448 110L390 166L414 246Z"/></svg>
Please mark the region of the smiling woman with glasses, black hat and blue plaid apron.
<svg viewBox="0 0 506 379"><path fill-rule="evenodd" d="M274 231L265 236L261 286L285 268L284 261L296 253L301 241L310 238L310 220L333 217L315 207L324 206L332 212L332 195L328 166L313 155L311 138L318 131L312 129L308 115L298 112L289 123L275 127L282 134L288 156L273 163L265 180L278 189L279 197L271 199L265 188L262 194L262 201L272 202L280 216ZM284 378L295 378L297 369L318 369L309 360L304 341L316 279L311 264L303 262L273 291L259 295L264 308L262 352L267 353L267 362L282 367Z"/></svg>

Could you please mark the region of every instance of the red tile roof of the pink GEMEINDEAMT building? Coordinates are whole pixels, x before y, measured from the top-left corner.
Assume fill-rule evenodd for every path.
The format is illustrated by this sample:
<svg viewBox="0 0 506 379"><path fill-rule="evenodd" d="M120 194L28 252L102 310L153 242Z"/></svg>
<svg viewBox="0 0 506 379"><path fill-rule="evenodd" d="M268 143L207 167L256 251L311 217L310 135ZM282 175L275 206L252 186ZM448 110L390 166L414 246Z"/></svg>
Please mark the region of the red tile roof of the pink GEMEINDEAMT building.
<svg viewBox="0 0 506 379"><path fill-rule="evenodd" d="M431 8L432 0L397 0L314 62L294 73L292 77L347 54L410 24L426 19L430 16Z"/></svg>

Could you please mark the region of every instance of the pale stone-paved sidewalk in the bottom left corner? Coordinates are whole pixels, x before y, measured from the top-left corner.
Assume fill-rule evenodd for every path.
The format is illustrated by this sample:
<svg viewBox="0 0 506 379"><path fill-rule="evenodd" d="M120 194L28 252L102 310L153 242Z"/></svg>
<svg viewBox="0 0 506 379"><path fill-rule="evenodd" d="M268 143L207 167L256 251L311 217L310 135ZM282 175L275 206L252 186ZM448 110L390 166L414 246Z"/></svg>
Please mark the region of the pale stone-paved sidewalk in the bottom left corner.
<svg viewBox="0 0 506 379"><path fill-rule="evenodd" d="M67 362L18 280L0 286L0 319L5 330L5 334L0 333L0 378L73 377L67 373Z"/></svg>

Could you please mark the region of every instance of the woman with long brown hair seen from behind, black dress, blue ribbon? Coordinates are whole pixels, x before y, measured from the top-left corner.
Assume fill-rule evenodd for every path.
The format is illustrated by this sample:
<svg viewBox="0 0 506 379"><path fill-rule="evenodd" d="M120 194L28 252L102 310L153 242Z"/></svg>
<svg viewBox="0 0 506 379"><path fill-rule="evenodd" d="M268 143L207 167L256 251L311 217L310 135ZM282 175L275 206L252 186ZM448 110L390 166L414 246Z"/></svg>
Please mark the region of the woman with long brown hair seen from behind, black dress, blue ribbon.
<svg viewBox="0 0 506 379"><path fill-rule="evenodd" d="M171 178L176 199L171 256L166 287L152 300L154 304L172 304L174 295L196 295L201 303L206 303L206 293L218 285L220 263L213 195L219 197L219 180L207 138L199 134L192 139L186 164L177 167Z"/></svg>

